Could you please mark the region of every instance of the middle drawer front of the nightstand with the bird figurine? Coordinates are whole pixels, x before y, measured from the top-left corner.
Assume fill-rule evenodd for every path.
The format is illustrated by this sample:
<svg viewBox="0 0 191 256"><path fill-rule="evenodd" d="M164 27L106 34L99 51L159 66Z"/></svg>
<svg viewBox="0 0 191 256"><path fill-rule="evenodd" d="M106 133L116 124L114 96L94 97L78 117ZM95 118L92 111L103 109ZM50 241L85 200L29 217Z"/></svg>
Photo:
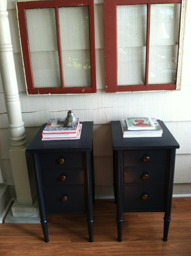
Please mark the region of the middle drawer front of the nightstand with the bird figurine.
<svg viewBox="0 0 191 256"><path fill-rule="evenodd" d="M83 169L43 169L44 185L83 185Z"/></svg>

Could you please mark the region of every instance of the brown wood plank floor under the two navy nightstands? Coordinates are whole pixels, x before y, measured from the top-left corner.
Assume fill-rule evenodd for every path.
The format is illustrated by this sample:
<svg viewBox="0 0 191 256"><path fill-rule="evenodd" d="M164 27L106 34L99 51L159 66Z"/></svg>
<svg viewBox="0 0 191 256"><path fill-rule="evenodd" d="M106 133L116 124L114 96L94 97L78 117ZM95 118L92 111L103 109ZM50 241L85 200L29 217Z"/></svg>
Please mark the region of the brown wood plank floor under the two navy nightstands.
<svg viewBox="0 0 191 256"><path fill-rule="evenodd" d="M88 242L86 214L47 215L49 243L41 224L0 224L0 255L191 256L191 198L174 198L168 242L164 213L124 213L123 241L117 242L113 200L94 204L94 242Z"/></svg>

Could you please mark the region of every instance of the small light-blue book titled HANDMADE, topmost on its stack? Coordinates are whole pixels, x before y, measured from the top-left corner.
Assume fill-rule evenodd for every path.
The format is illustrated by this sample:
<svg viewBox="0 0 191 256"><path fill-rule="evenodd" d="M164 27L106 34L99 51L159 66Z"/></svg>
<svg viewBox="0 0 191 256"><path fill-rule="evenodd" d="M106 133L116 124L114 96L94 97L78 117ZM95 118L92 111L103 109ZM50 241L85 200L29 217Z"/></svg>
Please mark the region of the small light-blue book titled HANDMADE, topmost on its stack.
<svg viewBox="0 0 191 256"><path fill-rule="evenodd" d="M155 125L150 117L127 117L125 118L128 130L154 130Z"/></svg>

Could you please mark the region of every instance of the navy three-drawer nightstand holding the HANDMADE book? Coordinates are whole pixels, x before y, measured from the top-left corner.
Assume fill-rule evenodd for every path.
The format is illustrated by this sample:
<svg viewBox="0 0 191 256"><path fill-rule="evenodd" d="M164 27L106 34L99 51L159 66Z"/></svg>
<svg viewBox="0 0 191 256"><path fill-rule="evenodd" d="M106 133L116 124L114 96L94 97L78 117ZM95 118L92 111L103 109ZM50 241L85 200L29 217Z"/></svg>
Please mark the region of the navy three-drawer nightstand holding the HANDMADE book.
<svg viewBox="0 0 191 256"><path fill-rule="evenodd" d="M163 241L168 240L176 149L179 144L163 121L162 137L123 138L120 121L112 121L114 193L118 241L123 212L165 212Z"/></svg>

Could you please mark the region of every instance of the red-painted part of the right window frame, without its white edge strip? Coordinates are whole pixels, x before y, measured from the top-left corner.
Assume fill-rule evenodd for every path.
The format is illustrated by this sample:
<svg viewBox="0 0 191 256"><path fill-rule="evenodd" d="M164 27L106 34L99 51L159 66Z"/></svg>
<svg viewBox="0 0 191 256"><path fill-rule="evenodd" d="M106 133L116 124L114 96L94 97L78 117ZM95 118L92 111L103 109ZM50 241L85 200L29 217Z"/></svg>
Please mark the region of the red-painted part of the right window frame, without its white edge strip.
<svg viewBox="0 0 191 256"><path fill-rule="evenodd" d="M150 5L182 3L181 0L104 0L106 93L175 90L173 84L148 84ZM117 85L117 5L147 5L146 68L144 85Z"/></svg>

